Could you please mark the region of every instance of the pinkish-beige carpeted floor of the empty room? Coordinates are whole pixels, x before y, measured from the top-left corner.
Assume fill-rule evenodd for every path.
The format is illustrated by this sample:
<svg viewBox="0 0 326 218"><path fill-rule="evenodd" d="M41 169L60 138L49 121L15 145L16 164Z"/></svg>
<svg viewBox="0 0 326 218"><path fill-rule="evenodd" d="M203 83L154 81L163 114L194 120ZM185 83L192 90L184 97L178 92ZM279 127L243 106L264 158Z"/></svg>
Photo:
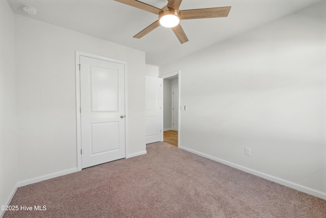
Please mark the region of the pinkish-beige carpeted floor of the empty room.
<svg viewBox="0 0 326 218"><path fill-rule="evenodd" d="M4 217L326 217L326 201L157 142L18 188ZM34 206L46 206L35 211Z"/></svg>

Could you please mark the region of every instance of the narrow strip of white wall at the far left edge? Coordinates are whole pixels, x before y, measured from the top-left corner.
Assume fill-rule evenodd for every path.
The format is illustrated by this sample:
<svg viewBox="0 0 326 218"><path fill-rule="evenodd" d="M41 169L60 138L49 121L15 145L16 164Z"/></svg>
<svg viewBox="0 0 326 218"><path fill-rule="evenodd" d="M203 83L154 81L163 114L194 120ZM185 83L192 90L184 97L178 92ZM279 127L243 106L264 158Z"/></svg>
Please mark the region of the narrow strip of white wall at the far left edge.
<svg viewBox="0 0 326 218"><path fill-rule="evenodd" d="M17 184L14 39L14 14L7 1L0 1L0 205L8 205Z"/></svg>

